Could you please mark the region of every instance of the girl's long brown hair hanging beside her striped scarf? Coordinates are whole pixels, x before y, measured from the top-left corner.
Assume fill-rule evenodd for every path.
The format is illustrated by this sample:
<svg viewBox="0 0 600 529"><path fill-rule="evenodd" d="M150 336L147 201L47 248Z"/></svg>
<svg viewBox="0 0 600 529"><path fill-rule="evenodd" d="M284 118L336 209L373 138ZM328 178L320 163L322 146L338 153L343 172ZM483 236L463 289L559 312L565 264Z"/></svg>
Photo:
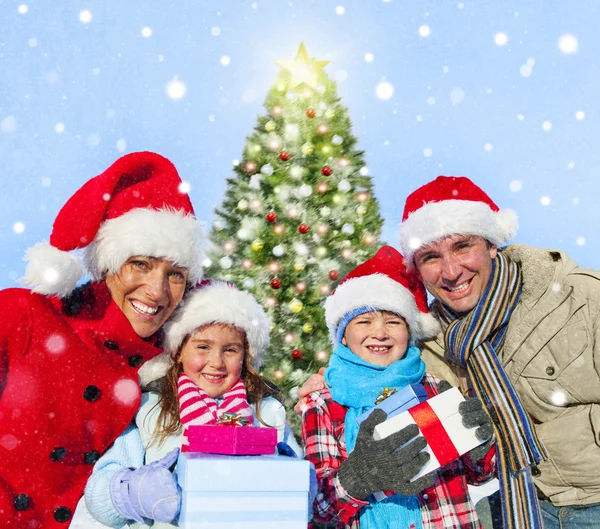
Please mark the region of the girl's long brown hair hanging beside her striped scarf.
<svg viewBox="0 0 600 529"><path fill-rule="evenodd" d="M229 327L230 325L225 323L208 323L198 327L194 332L205 329L211 325L219 325L222 327ZM250 347L248 345L248 339L243 329L236 327L244 335L244 360L242 365L241 378L246 386L246 393L248 395L248 403L255 404L256 418L265 426L271 427L262 420L260 416L260 406L265 397L275 397L281 400L281 393L279 388L260 375L256 369L252 366L252 358L250 355ZM175 355L175 361L173 365L167 371L167 375L163 380L160 387L159 399L157 406L160 407L160 413L158 414L158 420L156 421L156 427L152 432L150 444L158 443L160 446L167 437L178 433L181 429L181 421L179 418L179 397L177 391L177 382L179 381L179 375L183 372L179 356L181 350L190 339L191 334L186 336Z"/></svg>

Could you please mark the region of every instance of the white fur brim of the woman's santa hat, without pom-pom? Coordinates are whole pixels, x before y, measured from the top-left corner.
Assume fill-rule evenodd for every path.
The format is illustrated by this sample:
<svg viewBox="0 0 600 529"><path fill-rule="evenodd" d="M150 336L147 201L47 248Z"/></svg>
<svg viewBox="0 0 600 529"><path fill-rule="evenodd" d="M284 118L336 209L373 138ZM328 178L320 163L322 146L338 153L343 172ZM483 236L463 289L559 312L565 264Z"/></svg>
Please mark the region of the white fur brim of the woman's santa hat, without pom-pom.
<svg viewBox="0 0 600 529"><path fill-rule="evenodd" d="M188 282L202 278L203 233L196 217L169 208L137 208L106 220L83 253L94 280L118 272L134 255L161 257L187 268Z"/></svg>

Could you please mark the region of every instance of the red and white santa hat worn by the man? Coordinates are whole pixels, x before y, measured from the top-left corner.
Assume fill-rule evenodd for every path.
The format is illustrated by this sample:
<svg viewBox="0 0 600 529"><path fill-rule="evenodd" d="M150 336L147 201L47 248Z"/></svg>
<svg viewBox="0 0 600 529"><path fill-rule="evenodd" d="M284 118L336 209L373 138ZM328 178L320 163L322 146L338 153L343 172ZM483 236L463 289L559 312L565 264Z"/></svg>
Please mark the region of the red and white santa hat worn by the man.
<svg viewBox="0 0 600 529"><path fill-rule="evenodd" d="M414 253L449 235L480 235L505 246L517 233L517 214L500 209L464 176L438 176L406 199L400 224L400 248L409 268Z"/></svg>

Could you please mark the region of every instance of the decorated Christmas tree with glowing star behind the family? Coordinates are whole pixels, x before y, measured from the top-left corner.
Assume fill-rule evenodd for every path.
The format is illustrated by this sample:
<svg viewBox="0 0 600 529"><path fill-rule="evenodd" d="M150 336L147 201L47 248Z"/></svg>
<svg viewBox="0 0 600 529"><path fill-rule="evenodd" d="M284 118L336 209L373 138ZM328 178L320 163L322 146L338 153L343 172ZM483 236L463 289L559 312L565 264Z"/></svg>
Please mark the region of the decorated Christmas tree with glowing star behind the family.
<svg viewBox="0 0 600 529"><path fill-rule="evenodd" d="M294 388L327 365L325 297L377 251L383 222L327 63L310 59L304 44L295 60L279 61L266 113L234 164L211 231L208 276L233 281L267 308L273 329L263 374L289 405Z"/></svg>

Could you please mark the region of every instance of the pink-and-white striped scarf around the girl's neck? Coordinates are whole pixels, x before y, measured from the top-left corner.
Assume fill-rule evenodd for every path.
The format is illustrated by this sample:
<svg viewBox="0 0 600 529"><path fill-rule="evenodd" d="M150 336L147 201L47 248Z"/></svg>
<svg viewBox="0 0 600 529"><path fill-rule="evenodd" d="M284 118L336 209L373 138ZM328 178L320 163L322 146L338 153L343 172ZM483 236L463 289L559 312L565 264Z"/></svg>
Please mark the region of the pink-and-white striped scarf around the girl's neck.
<svg viewBox="0 0 600 529"><path fill-rule="evenodd" d="M179 417L184 428L202 424L216 424L218 418L224 413L240 415L242 418L252 419L252 408L248 404L246 386L243 380L238 380L235 385L223 395L223 402L217 406L205 391L192 382L186 374L181 373L177 381L179 396ZM252 420L250 420L252 422Z"/></svg>

